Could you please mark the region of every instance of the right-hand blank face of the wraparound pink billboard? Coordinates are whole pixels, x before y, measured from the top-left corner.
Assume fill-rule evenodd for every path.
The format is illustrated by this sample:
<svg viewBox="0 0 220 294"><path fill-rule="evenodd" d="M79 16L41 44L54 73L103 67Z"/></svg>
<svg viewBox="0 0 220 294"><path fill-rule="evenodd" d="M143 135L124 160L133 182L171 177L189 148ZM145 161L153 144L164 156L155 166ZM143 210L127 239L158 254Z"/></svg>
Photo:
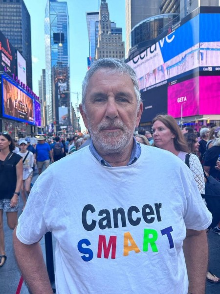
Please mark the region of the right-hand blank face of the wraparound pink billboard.
<svg viewBox="0 0 220 294"><path fill-rule="evenodd" d="M220 76L200 76L199 90L199 114L220 114Z"/></svg>

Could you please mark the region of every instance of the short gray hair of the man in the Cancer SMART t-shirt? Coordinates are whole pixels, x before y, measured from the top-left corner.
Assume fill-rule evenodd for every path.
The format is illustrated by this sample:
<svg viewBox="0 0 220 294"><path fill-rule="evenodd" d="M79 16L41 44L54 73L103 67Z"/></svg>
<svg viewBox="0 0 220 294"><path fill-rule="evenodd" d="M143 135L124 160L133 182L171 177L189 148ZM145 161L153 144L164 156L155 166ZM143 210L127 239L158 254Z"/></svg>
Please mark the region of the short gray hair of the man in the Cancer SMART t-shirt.
<svg viewBox="0 0 220 294"><path fill-rule="evenodd" d="M137 76L134 70L128 64L126 64L124 61L121 61L120 59L103 58L103 59L98 59L91 65L91 68L88 70L84 78L83 85L82 85L82 106L84 111L85 111L85 103L86 103L89 79L92 77L94 73L96 73L97 71L101 69L110 69L114 73L122 73L122 74L129 75L132 79L133 90L134 90L136 101L139 107L140 102L142 100L141 100L141 94L139 90Z"/></svg>

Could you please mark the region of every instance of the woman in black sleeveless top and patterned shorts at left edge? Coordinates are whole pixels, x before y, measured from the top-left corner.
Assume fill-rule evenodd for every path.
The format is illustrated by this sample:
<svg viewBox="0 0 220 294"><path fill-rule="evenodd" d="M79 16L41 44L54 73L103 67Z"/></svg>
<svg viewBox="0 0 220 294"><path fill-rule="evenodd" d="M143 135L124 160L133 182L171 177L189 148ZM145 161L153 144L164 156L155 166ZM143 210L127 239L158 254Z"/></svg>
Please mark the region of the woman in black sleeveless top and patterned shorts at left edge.
<svg viewBox="0 0 220 294"><path fill-rule="evenodd" d="M11 136L0 134L0 267L6 261L4 248L3 212L10 229L17 224L19 194L22 186L22 157L14 152Z"/></svg>

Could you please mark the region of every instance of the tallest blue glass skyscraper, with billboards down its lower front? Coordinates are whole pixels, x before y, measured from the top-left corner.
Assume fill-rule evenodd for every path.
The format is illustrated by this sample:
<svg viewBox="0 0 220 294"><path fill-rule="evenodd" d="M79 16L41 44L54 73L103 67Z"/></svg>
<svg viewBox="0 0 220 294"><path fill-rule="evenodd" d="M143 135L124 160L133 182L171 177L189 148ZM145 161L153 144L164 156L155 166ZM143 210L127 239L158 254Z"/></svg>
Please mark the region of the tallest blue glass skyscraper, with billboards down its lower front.
<svg viewBox="0 0 220 294"><path fill-rule="evenodd" d="M66 2L47 0L44 21L46 120L59 133L70 125L69 16Z"/></svg>

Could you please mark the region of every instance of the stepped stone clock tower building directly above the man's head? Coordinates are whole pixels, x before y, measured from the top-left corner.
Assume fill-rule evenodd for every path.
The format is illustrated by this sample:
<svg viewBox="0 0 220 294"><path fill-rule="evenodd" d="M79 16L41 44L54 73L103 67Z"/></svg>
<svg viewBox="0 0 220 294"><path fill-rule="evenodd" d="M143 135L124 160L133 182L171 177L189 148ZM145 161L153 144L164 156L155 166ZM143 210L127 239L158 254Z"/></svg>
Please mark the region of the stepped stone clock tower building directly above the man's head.
<svg viewBox="0 0 220 294"><path fill-rule="evenodd" d="M106 0L102 0L99 12L98 44L95 59L119 58L125 56L125 44L122 41L122 28L110 22L109 8Z"/></svg>

